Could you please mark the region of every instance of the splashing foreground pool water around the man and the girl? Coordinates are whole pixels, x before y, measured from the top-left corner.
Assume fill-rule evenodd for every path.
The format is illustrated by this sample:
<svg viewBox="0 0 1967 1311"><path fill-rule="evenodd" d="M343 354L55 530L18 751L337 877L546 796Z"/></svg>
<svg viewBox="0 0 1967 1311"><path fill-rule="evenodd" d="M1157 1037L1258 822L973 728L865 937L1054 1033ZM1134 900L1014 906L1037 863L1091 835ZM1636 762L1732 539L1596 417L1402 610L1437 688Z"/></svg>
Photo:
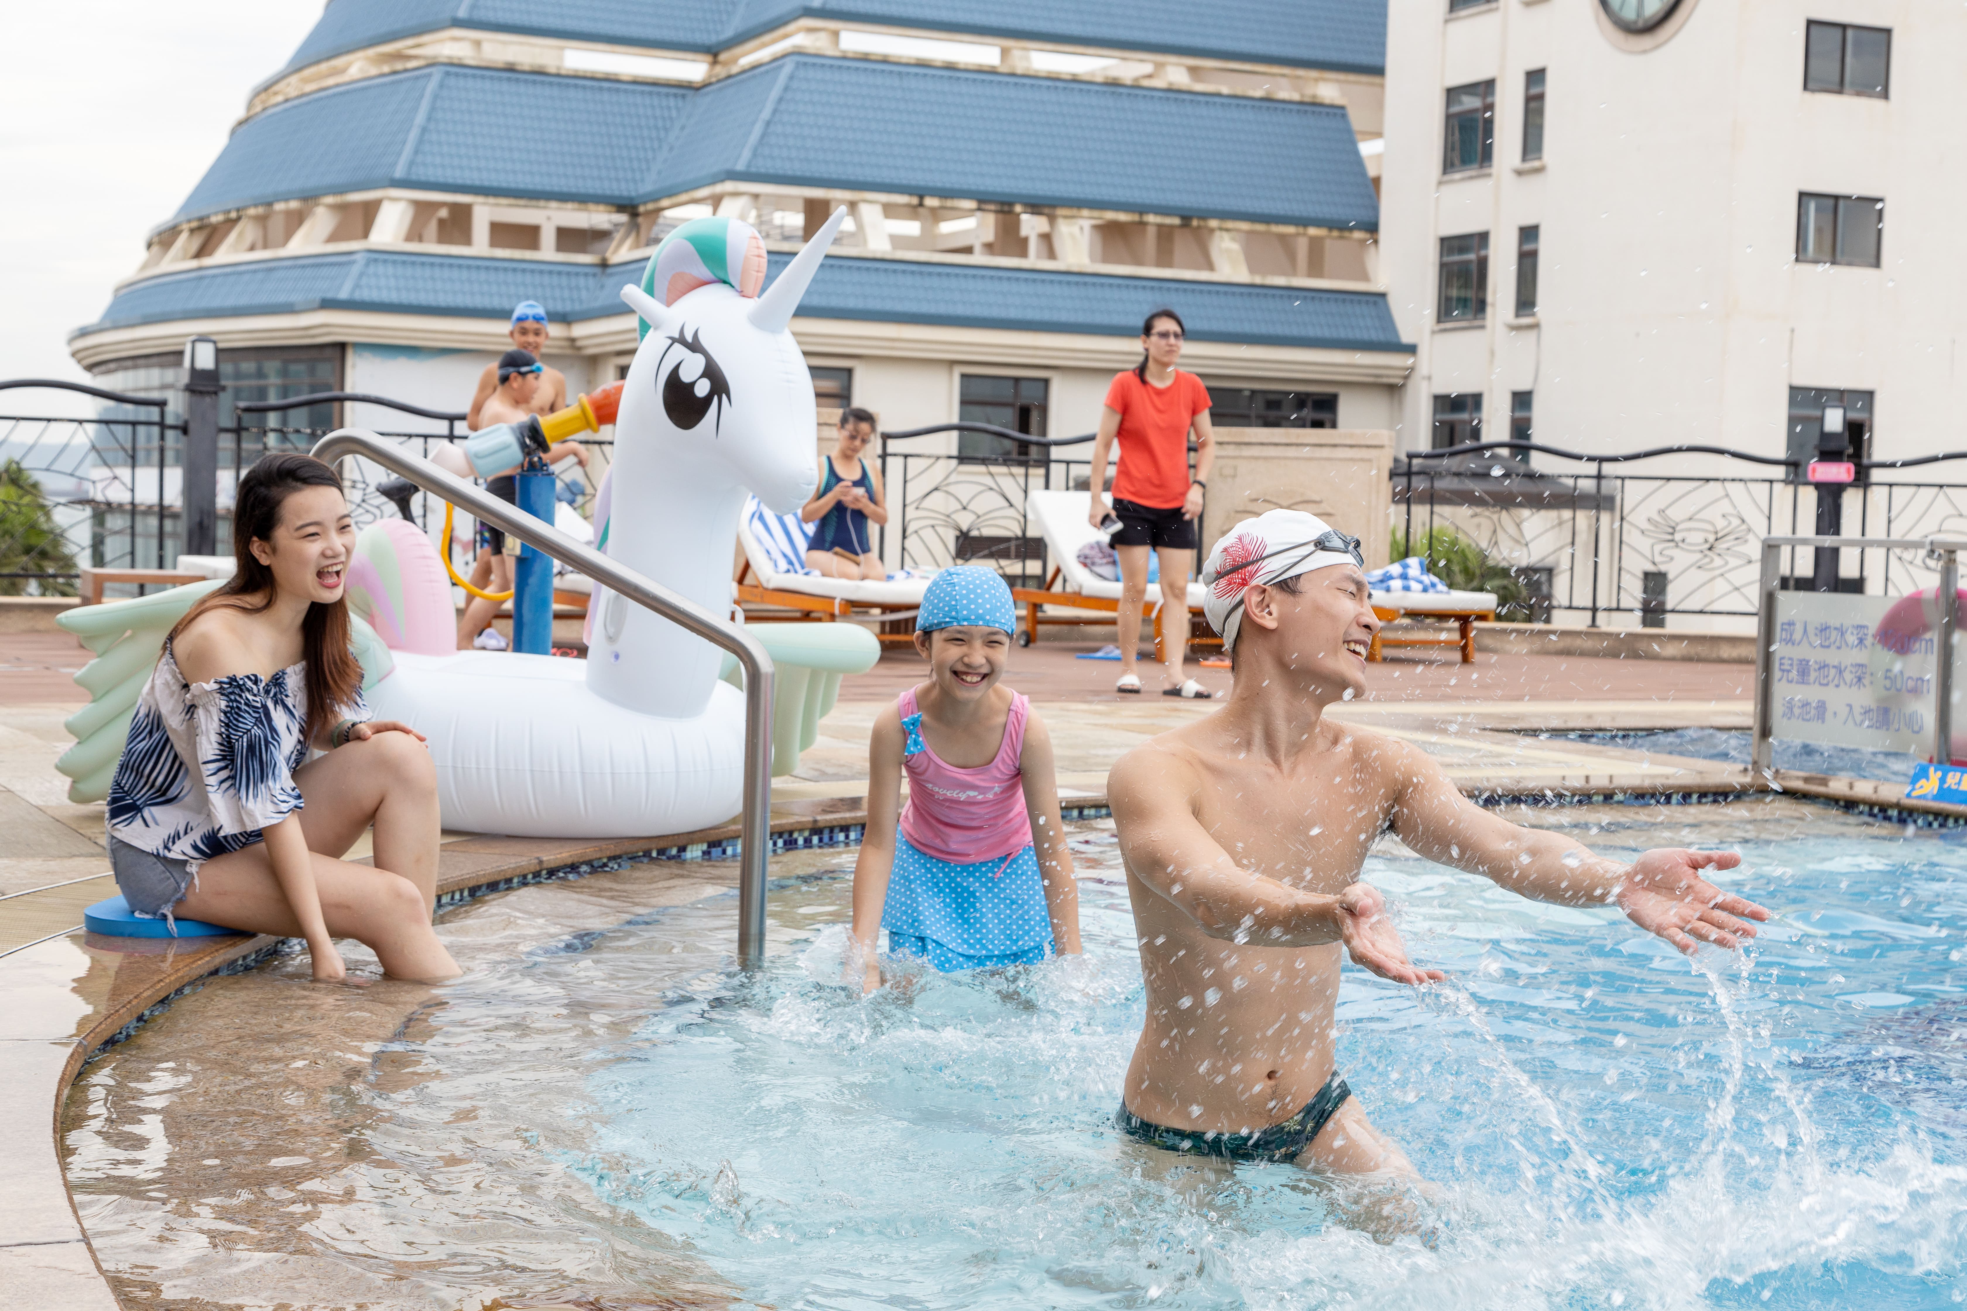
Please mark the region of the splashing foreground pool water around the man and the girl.
<svg viewBox="0 0 1967 1311"><path fill-rule="evenodd" d="M466 979L362 1018L299 961L228 979L85 1075L71 1183L155 1305L1955 1305L1967 839L1792 800L1530 818L1737 845L1778 918L1690 963L1383 845L1450 981L1347 967L1340 1061L1442 1187L1428 1242L1113 1130L1141 989L1105 826L1084 961L873 1000L832 983L844 853L773 894L761 977L734 896L633 914L629 871L452 912Z"/></svg>

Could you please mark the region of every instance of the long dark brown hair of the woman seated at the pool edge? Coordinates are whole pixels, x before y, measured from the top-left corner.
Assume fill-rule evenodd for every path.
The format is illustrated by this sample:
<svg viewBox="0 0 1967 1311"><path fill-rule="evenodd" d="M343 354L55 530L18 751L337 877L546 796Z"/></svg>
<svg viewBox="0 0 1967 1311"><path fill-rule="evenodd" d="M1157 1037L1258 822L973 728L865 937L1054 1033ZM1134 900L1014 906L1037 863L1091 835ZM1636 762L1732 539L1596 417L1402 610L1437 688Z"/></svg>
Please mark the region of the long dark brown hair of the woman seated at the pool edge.
<svg viewBox="0 0 1967 1311"><path fill-rule="evenodd" d="M342 480L321 460L301 454L260 456L246 470L232 507L232 558L238 568L232 570L232 578L222 588L177 621L177 627L171 629L173 641L187 623L214 605L230 605L258 615L273 603L273 570L260 564L252 544L273 541L281 507L289 495L303 487L342 491ZM303 741L313 743L332 723L330 715L354 702L362 688L362 666L348 649L348 601L344 598L315 601L307 607L307 617L301 621L301 658L307 662L307 723L301 731Z"/></svg>

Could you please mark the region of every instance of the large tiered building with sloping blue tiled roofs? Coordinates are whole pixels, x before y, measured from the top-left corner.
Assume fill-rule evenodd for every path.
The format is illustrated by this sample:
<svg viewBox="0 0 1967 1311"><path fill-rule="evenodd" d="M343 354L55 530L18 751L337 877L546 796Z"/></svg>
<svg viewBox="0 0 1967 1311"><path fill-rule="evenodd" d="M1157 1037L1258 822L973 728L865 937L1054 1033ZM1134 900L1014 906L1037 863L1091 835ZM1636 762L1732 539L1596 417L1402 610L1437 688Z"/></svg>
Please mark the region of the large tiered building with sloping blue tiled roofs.
<svg viewBox="0 0 1967 1311"><path fill-rule="evenodd" d="M1245 423L1391 428L1383 49L1385 0L330 0L71 350L464 409L531 299L580 389L679 222L777 271L846 204L793 320L822 405L1086 432L1172 305Z"/></svg>

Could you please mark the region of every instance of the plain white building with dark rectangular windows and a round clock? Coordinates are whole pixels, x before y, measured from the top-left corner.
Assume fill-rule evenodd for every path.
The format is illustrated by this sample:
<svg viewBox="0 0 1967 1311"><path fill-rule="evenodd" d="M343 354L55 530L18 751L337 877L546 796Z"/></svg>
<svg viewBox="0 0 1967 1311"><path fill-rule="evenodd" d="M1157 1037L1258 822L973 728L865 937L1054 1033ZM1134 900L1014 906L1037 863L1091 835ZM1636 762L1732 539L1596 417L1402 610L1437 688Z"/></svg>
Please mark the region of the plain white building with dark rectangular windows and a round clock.
<svg viewBox="0 0 1967 1311"><path fill-rule="evenodd" d="M1381 200L1395 320L1416 344L1402 450L1528 436L1808 460L1827 405L1861 458L1967 446L1949 425L1963 59L1967 12L1918 0L1393 0ZM1796 478L1707 456L1609 472ZM1867 495L1847 527L1878 533ZM1593 548L1574 525L1583 554L1566 558L1560 521L1595 511L1601 605L1652 621L1741 607L1749 539L1790 531L1792 511L1812 531L1810 491L1607 497L1546 495L1542 527L1509 531L1456 513L1515 564L1554 570L1564 609L1564 572L1589 582Z"/></svg>

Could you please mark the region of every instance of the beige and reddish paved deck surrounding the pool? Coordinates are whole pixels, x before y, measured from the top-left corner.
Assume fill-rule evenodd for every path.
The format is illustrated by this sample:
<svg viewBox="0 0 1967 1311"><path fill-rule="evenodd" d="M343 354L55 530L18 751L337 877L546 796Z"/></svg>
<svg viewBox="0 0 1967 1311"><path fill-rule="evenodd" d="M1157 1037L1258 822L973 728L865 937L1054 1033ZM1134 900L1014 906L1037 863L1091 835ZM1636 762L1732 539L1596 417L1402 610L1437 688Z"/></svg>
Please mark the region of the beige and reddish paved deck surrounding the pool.
<svg viewBox="0 0 1967 1311"><path fill-rule="evenodd" d="M1007 682L1027 692L1058 749L1060 798L1103 806L1105 772L1125 751L1210 713L1210 702L1113 692L1117 662L1078 660L1092 647L1041 643L1013 651ZM90 1054L179 989L264 959L271 938L189 941L104 940L81 932L83 908L110 896L102 806L67 800L55 759L61 723L83 698L69 682L89 658L73 639L0 635L0 1287L14 1305L116 1307L77 1221L61 1173L57 1122L67 1087ZM820 741L799 772L773 786L773 831L846 841L865 818L867 735L875 715L924 674L891 651L842 684ZM1200 670L1225 692L1227 670ZM1753 670L1741 664L1479 655L1473 664L1395 656L1369 666L1369 694L1334 717L1418 745L1463 790L1483 798L1609 794L1721 796L1753 790L1747 770L1532 733L1749 727ZM1900 802L1900 786L1778 774L1778 786L1851 806L1900 806L1967 818L1951 806ZM586 863L730 843L736 826L633 839L537 839L445 833L441 892L504 886ZM358 847L354 857L364 855ZM663 902L728 886L732 867L647 865ZM659 884L675 884L665 888Z"/></svg>

